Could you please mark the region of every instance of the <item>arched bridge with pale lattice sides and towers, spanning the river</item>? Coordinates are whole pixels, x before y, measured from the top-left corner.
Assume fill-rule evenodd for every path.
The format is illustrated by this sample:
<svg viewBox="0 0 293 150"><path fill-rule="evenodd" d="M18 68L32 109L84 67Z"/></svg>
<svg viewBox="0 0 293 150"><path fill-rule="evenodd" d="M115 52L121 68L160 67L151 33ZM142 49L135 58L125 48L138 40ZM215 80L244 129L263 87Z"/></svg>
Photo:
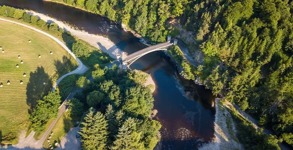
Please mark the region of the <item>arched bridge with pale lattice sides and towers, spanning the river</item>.
<svg viewBox="0 0 293 150"><path fill-rule="evenodd" d="M173 43L171 43L171 36L168 36L167 42L163 42L163 43L160 43L160 44L149 46L147 48L144 48L142 50L134 52L134 53L132 53L130 55L127 55L125 58L122 59L123 65L130 66L133 62L138 60L140 57L142 57L142 56L144 56L144 55L146 55L148 53L157 51L157 50L168 50L168 48L170 46L172 46L173 44L174 45L177 44L177 39L174 39Z"/></svg>

